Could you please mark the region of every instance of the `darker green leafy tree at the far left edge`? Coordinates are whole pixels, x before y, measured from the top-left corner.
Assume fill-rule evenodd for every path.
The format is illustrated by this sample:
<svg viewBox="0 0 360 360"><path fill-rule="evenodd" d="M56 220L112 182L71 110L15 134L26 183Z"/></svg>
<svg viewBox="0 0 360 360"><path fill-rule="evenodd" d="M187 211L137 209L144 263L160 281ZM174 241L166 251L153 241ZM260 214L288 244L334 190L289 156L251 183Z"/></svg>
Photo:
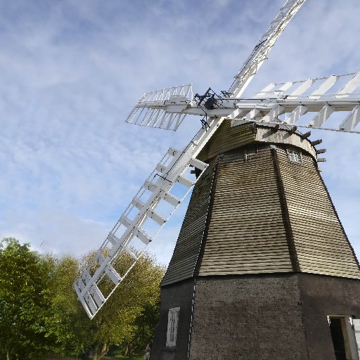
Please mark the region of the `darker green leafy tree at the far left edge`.
<svg viewBox="0 0 360 360"><path fill-rule="evenodd" d="M39 359L53 351L46 336L51 266L29 244L0 243L0 347L6 359Z"/></svg>

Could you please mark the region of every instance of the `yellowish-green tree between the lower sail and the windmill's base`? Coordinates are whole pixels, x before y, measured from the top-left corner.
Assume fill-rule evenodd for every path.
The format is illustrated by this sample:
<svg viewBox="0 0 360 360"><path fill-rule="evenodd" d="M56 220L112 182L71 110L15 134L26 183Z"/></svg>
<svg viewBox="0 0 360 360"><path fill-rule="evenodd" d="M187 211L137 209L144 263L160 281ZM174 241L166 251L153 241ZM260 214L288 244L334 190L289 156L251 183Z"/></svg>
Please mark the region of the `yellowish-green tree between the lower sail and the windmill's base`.
<svg viewBox="0 0 360 360"><path fill-rule="evenodd" d="M129 262L131 258L123 255L115 264L115 269L119 274L124 274ZM91 321L93 326L91 349L94 360L101 359L111 345L123 347L125 354L131 354L138 347L142 349L146 342L149 342L158 321L159 285L164 271L165 269L156 264L155 259L150 255L140 257L108 302ZM101 290L106 291L106 284ZM146 323L146 320L150 323Z"/></svg>

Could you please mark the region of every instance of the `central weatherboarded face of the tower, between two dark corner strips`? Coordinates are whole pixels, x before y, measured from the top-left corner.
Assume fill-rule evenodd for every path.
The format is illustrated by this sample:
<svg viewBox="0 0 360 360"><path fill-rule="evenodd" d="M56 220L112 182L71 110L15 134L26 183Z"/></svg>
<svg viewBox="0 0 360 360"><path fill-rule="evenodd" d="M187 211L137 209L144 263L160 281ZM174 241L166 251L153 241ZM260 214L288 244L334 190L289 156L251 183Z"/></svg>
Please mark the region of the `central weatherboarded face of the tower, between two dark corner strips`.
<svg viewBox="0 0 360 360"><path fill-rule="evenodd" d="M198 275L293 271L269 146L219 160Z"/></svg>

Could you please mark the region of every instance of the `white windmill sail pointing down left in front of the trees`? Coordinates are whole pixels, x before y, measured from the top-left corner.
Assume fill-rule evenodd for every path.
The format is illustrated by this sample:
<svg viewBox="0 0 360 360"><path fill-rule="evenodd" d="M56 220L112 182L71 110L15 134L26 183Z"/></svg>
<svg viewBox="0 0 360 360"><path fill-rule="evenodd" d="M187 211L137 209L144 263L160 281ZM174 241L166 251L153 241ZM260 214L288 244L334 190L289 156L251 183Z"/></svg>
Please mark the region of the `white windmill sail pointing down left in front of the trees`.
<svg viewBox="0 0 360 360"><path fill-rule="evenodd" d="M127 276L139 257L141 257L146 246L155 238L195 184L196 179L188 179L184 175L186 169L190 166L201 171L206 169L207 164L197 160L195 157L218 126L219 122L212 120L209 127L201 129L184 150L177 151L172 148L167 150L162 161L146 179L143 186L131 200L127 210L110 231L92 262L86 269L82 270L82 274L75 281L73 287L91 319L103 307L103 304L124 277ZM185 188L180 198L172 193L172 188L176 183L183 185ZM162 201L172 207L167 214L158 212L158 207L160 207ZM134 210L136 211L134 212ZM129 217L131 213L134 214L132 218ZM144 229L146 221L153 221L153 225L157 225L153 235L148 234ZM154 226L152 227L154 228ZM134 252L133 250L136 240L143 243L140 252ZM119 274L113 265L123 253L130 255L131 264L127 265L127 269L122 274ZM111 288L110 290L107 289L106 294L101 291L101 282L104 281L104 278L108 280L108 283L110 281L111 284Z"/></svg>

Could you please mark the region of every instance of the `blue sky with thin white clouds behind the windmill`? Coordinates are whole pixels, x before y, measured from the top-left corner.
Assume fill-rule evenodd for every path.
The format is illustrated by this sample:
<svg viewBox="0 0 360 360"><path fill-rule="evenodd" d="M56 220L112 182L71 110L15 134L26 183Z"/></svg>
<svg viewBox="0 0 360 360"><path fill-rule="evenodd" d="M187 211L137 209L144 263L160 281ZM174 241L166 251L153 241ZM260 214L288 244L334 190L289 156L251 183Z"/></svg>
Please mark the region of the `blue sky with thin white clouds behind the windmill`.
<svg viewBox="0 0 360 360"><path fill-rule="evenodd" d="M98 248L169 146L125 124L144 91L229 89L284 0L0 0L0 238L81 256ZM307 0L247 95L358 71L359 0ZM360 134L322 131L323 177L360 256ZM301 191L301 189L299 189ZM186 202L150 251L167 264Z"/></svg>

